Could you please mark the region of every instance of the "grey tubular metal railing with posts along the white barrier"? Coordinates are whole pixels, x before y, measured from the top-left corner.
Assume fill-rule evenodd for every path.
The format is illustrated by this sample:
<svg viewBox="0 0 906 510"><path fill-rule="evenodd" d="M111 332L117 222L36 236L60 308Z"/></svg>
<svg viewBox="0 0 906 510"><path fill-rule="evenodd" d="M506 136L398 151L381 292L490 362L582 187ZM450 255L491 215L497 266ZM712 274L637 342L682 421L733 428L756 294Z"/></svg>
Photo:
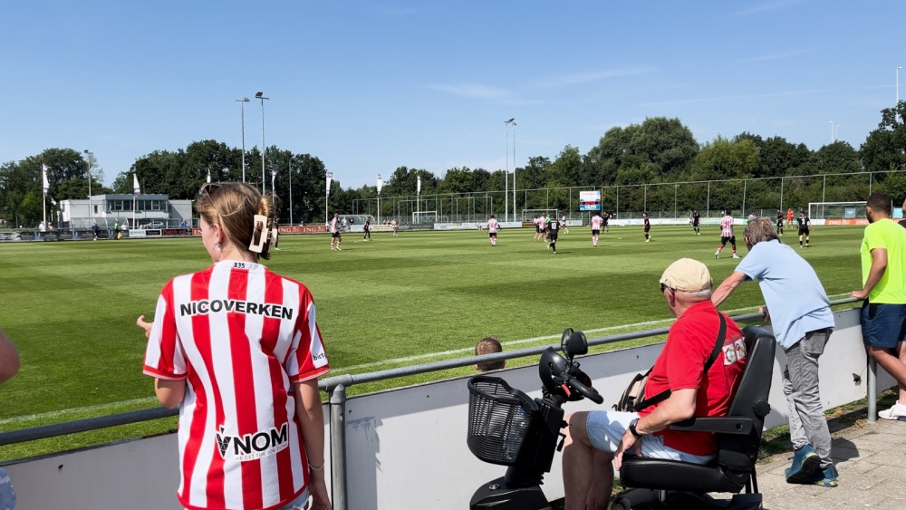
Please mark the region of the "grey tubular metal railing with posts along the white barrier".
<svg viewBox="0 0 906 510"><path fill-rule="evenodd" d="M854 298L840 299L830 302L831 306L848 304L848 303L861 303L860 300ZM746 313L742 315L736 315L731 317L734 321L737 322L748 322L748 321L757 321L765 318L764 313ZM625 332L619 334L613 334L608 336L595 337L588 340L589 347L607 345L618 342L627 342L631 340L638 340L642 338L651 338L654 336L660 336L667 334L670 331L670 326L664 326L660 328L653 328L647 330L641 330L637 332ZM495 354L485 354L482 356L468 356L466 358L457 358L454 360L445 360L445 361L434 361L430 363L423 363L419 365L412 365L408 367L400 367L395 369L388 370L378 370L372 372L366 372L361 374L342 374L334 377L328 377L323 380L318 381L318 388L320 390L326 391L329 395L329 404L330 404L330 430L331 430L331 468L332 468L332 483L333 483L333 507L337 510L346 510L347 509L347 492L346 492L346 428L345 428L345 415L346 415L346 390L356 384L364 384L368 382L375 382L380 380L390 380L397 379L401 377L407 377L412 375L419 375L428 372L436 372L441 370L450 370L457 369L461 367L472 366L476 363L484 363L491 361L505 361L513 360L516 358L524 358L527 356L538 356L545 351L551 345L545 344L542 346L536 347L526 347L524 349L517 349L514 351L504 351L497 352ZM554 345L554 348L559 348L559 345ZM867 388L867 399L868 401L868 421L874 422L877 420L877 400L872 399L871 397L877 392L877 365L876 363L869 358L869 370L868 370L868 388ZM142 421L149 421L152 419L162 419L177 416L179 413L177 409L164 409L164 408L154 408L154 409L141 409L136 411L124 412L119 414L113 414L108 416L102 416L97 418L89 419L79 419L74 421L68 421L63 423L57 423L53 425L45 425L42 427L34 428L24 428L21 430L13 430L10 432L0 433L0 446L13 445L17 443L24 443L26 441L34 441L36 439L45 439L45 438L55 438L58 436L64 436L68 434L74 434L77 432L87 432L90 430L97 430L101 428L110 428L116 427L119 425L128 425L132 423L139 423Z"/></svg>

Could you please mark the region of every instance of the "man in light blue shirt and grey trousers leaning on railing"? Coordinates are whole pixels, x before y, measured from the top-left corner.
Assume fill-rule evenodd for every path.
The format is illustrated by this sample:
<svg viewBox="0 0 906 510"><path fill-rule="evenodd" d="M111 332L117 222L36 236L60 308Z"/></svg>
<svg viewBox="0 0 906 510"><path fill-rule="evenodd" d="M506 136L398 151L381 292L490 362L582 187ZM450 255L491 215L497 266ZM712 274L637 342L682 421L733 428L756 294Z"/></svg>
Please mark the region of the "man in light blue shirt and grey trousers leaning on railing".
<svg viewBox="0 0 906 510"><path fill-rule="evenodd" d="M830 301L812 266L793 248L780 243L768 220L750 221L745 240L748 255L718 286L711 301L719 305L738 284L758 280L765 296L765 318L786 352L784 394L795 448L786 481L837 486L831 434L818 393L818 357L834 328Z"/></svg>

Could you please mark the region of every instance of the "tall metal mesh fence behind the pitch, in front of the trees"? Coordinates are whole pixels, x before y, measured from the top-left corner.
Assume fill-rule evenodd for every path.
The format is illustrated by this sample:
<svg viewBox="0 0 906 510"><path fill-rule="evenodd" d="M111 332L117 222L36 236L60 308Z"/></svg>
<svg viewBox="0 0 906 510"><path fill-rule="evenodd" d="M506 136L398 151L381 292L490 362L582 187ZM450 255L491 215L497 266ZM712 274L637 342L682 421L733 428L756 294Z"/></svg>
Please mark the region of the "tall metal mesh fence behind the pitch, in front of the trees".
<svg viewBox="0 0 906 510"><path fill-rule="evenodd" d="M587 219L593 213L579 211L580 191L601 191L602 210L616 219L641 217L645 211L651 217L689 217L692 209L702 217L719 217L725 209L739 217L750 212L773 217L777 209L798 211L811 202L862 201L873 191L886 191L901 200L906 198L900 196L906 191L906 171L534 188L510 190L508 195L504 191L441 193L381 197L380 205L378 198L358 198L350 212L375 217L380 212L382 219L397 217L404 223L411 221L415 211L436 211L438 221L448 222L481 221L492 214L501 220L527 221L535 213L526 210L553 209L570 218Z"/></svg>

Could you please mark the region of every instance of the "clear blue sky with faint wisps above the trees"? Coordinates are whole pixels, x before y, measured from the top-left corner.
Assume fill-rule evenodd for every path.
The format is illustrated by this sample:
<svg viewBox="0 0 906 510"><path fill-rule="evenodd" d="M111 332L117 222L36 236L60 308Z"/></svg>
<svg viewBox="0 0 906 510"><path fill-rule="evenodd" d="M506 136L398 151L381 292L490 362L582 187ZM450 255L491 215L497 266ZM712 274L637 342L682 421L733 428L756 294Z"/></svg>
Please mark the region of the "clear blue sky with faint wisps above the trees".
<svg viewBox="0 0 906 510"><path fill-rule="evenodd" d="M811 149L834 120L858 148L894 104L904 18L902 1L8 3L0 161L91 149L109 183L155 149L238 147L255 91L267 145L343 186L504 168L509 118L519 165L652 116ZM247 149L260 115L246 104Z"/></svg>

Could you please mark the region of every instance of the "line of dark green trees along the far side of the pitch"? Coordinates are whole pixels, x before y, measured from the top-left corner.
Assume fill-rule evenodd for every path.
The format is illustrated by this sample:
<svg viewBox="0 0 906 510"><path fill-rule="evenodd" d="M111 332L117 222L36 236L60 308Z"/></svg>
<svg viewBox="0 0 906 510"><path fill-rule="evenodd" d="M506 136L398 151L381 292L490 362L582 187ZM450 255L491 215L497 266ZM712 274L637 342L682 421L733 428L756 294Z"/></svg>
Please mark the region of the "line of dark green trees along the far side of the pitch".
<svg viewBox="0 0 906 510"><path fill-rule="evenodd" d="M92 168L92 194L131 193L132 174L122 171L111 188L105 188L103 170L95 161L87 161L77 150L46 149L41 154L0 165L0 217L18 223L34 221L42 214L41 168L48 170L48 197L55 201L88 196L88 168ZM167 194L176 199L192 199L207 181L242 180L242 150L216 140L188 144L185 149L156 150L135 161L136 174L143 193ZM88 155L92 158L91 155ZM278 216L287 221L290 216L290 185L294 221L311 223L324 215L324 180L328 168L311 154L271 146L267 149L264 175L266 188L271 191L271 173L276 171L275 192L278 197ZM858 171L888 172L906 170L906 101L881 111L881 121L862 145L856 149L848 142L835 141L820 149L808 149L803 143L783 137L763 138L743 132L731 138L718 136L699 143L679 119L653 117L641 124L607 130L598 144L582 153L567 145L554 158L535 156L524 167L516 168L516 187L520 190L569 187L625 187L620 197L620 210L641 210L660 207L668 210L679 202L679 187L657 186L683 181L717 181L725 179L780 178L843 174ZM449 168L435 175L424 168L396 168L386 179L382 197L414 196L417 179L421 178L421 194L450 194L454 196L475 192L501 192L505 188L505 171L486 168ZM260 186L262 178L261 153L257 148L246 151L246 182ZM878 174L869 182L863 176L840 176L831 179L832 195L826 196L826 179L785 179L788 188L780 190L777 181L752 181L746 189L750 207L774 207L779 192L790 200L819 201L864 199L868 189L885 189L894 200L906 198L906 178L900 173ZM863 182L864 181L864 182ZM746 186L748 186L747 183ZM683 186L682 209L709 199L720 207L736 207L743 185L732 183L708 189ZM740 189L737 189L740 188ZM651 191L650 191L651 190ZM649 197L651 193L651 197ZM569 207L573 203L562 193L550 193L541 204L540 194L519 197L520 207ZM612 201L605 193L605 203ZM330 212L348 214L359 199L377 196L374 186L342 188L333 180ZM798 197L798 198L795 198ZM494 209L503 209L503 194L493 194ZM577 197L573 200L576 201ZM667 207L667 206L670 207ZM805 203L797 205L804 207ZM605 206L606 207L606 206ZM677 206L679 207L679 206ZM610 207L616 209L615 204ZM715 207L717 208L717 207Z"/></svg>

